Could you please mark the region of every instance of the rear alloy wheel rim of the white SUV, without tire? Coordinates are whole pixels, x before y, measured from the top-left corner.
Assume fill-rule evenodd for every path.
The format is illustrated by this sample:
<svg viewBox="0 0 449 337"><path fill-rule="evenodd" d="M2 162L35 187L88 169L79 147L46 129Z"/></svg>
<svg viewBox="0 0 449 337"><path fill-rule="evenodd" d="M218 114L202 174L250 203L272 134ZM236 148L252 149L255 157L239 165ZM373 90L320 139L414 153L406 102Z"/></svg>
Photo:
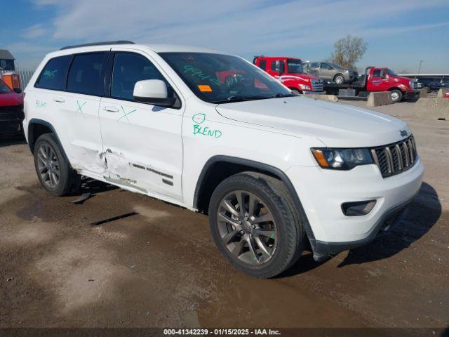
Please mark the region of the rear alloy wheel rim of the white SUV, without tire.
<svg viewBox="0 0 449 337"><path fill-rule="evenodd" d="M41 180L48 187L55 188L60 181L60 166L55 150L48 144L41 144L37 150L37 166Z"/></svg>

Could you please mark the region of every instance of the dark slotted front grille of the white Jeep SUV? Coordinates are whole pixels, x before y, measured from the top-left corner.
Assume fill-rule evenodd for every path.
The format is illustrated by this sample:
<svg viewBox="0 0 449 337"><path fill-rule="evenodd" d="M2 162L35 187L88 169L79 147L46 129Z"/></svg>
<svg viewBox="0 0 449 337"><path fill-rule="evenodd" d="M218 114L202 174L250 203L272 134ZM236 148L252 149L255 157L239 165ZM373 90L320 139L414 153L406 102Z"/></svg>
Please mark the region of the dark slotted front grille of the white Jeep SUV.
<svg viewBox="0 0 449 337"><path fill-rule="evenodd" d="M410 136L401 142L375 147L371 150L374 161L383 178L407 171L417 159L415 138Z"/></svg>

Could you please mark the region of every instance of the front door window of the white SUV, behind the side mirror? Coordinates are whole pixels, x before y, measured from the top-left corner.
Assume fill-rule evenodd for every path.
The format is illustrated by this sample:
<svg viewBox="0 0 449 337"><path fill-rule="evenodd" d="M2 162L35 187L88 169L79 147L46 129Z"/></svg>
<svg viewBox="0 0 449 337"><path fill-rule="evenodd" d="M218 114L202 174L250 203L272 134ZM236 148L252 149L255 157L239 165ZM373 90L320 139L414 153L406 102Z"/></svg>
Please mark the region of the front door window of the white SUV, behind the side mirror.
<svg viewBox="0 0 449 337"><path fill-rule="evenodd" d="M166 82L168 96L173 97L170 87L161 72L142 55L116 53L112 70L111 97L133 100L134 85L144 79L161 79Z"/></svg>

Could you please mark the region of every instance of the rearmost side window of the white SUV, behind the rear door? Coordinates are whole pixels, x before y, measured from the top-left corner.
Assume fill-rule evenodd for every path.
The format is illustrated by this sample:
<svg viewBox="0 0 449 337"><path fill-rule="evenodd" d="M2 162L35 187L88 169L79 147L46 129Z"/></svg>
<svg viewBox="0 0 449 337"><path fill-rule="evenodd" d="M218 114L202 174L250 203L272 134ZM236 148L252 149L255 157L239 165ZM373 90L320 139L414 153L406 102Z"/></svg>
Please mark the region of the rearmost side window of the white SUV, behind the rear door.
<svg viewBox="0 0 449 337"><path fill-rule="evenodd" d="M45 67L43 67L34 86L43 89L65 90L67 69L69 69L71 60L72 55L60 56L49 60Z"/></svg>

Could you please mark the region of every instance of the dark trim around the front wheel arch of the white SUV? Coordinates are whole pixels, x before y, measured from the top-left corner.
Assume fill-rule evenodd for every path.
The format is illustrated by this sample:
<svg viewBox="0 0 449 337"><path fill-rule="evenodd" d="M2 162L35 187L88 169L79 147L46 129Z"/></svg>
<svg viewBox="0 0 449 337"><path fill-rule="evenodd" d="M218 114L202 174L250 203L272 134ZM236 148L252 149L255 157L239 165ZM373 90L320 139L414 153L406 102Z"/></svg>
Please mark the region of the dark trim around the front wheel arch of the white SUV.
<svg viewBox="0 0 449 337"><path fill-rule="evenodd" d="M307 237L309 238L311 248L313 251L315 251L316 240L315 240L314 232L311 229L309 220L307 219L306 213L304 212L304 208L302 207L300 198L297 195L295 187L293 187L293 184L291 183L290 179L288 179L288 176L286 176L286 173L283 173L283 171L281 171L280 169L278 169L274 166L271 166L269 164L260 163L259 161L253 161L250 159L243 159L243 158L223 156L223 155L217 155L214 157L210 157L210 159L208 159L208 161L206 161L206 164L204 164L204 167L201 170L201 173L199 175L198 181L196 182L195 194L194 194L194 208L195 209L198 208L199 192L201 190L201 187L203 187L204 181L206 181L208 171L213 166L213 164L220 162L220 161L227 162L229 164L239 164L239 165L243 165L243 166L253 167L260 171L272 173L272 175L281 179L282 182L284 184L286 184L287 190L290 193L290 195L293 199L293 202L295 204L295 207L299 213L298 215L302 221L304 230L306 231Z"/></svg>

